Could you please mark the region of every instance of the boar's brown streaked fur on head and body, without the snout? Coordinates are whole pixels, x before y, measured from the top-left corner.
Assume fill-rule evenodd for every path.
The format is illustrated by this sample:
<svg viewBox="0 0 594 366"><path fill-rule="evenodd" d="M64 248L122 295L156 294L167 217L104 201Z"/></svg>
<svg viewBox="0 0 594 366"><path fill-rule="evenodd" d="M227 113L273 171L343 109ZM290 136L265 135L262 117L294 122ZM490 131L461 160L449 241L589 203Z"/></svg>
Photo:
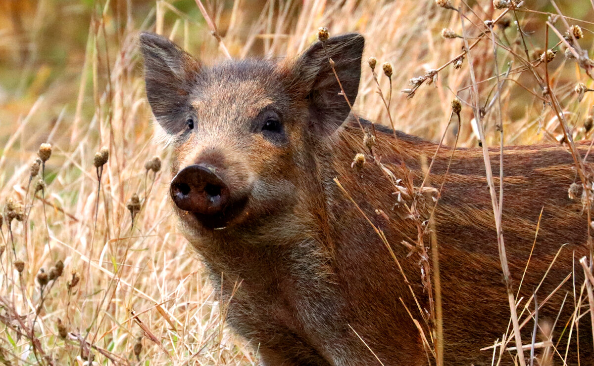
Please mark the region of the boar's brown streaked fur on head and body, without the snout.
<svg viewBox="0 0 594 366"><path fill-rule="evenodd" d="M384 365L427 364L421 336L402 304L421 320L401 272L333 178L386 234L416 297L427 309L418 256L407 256L409 249L402 244L416 239L416 223L397 204L393 185L369 154L361 172L351 168L355 154L365 152L364 136L355 119L346 117L349 110L337 94L320 43L296 61L242 61L207 69L154 37L141 38L148 59L147 91L151 107L157 108L157 120L176 139L173 174L188 165L208 163L216 166L233 197L249 198L244 210L217 230L177 210L185 236L207 265L216 292L223 303L229 303L230 326L254 344L266 365L378 364L374 354ZM155 48L167 50L167 60ZM339 78L345 80L351 101L358 87L361 50L361 36L328 40L327 52ZM170 59L175 62L168 73L163 65ZM185 72L179 72L179 62L188 63ZM151 65L159 66L157 73ZM174 101L168 101L159 85L171 87L176 75L182 74L187 78L181 84L187 95L176 94ZM254 132L258 114L271 107L282 118L286 143L271 142ZM188 115L196 119L195 127L180 133ZM437 145L403 133L394 139L391 130L383 128L377 129L377 139L375 153L381 162L397 178L407 174L404 162L415 185L420 185L422 157L430 161ZM582 155L586 147L580 147ZM450 155L447 147L440 149L431 170L433 187L443 182ZM498 150L491 149L492 165L498 166L498 160ZM503 229L514 290L529 259L542 209L520 291L523 306L563 244L538 289L539 301L571 273L574 259L587 254L587 222L580 201L567 196L577 178L571 155L563 147L507 147L504 172ZM405 200L411 203L410 198ZM428 215L431 198L418 200L421 214ZM375 210L383 210L386 216ZM479 349L501 338L510 310L481 150L456 150L435 211L435 229L440 245L445 364L491 364L492 351ZM579 296L583 274L576 268L576 277L539 312L539 319L554 321L563 297L570 293L554 342L574 309L573 281ZM525 343L532 326L531 321L523 329ZM589 316L580 319L580 358L587 365L593 357L591 326ZM564 340L567 335L568 329ZM565 342L560 342L561 354ZM568 364L573 365L577 364L575 329L571 343ZM510 354L504 354L502 364L513 364Z"/></svg>

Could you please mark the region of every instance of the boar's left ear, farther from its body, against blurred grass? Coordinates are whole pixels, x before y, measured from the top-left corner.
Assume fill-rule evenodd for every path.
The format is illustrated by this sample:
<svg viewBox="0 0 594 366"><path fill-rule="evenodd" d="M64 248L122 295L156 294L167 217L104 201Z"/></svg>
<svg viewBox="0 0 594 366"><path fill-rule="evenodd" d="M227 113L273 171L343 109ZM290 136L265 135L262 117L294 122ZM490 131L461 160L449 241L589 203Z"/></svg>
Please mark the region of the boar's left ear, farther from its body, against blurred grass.
<svg viewBox="0 0 594 366"><path fill-rule="evenodd" d="M178 133L185 127L191 107L188 97L200 72L200 62L154 33L140 34L140 50L153 114L167 133Z"/></svg>

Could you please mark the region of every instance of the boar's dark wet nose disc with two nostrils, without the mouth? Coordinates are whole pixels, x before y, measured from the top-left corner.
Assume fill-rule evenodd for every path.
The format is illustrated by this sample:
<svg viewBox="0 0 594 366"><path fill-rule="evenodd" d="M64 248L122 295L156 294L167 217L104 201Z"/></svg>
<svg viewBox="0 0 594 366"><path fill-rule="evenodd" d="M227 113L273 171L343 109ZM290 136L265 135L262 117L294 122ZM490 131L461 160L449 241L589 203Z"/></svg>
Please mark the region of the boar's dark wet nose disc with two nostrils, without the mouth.
<svg viewBox="0 0 594 366"><path fill-rule="evenodd" d="M218 216L229 203L229 187L210 166L182 169L171 181L170 191L177 207L200 216Z"/></svg>

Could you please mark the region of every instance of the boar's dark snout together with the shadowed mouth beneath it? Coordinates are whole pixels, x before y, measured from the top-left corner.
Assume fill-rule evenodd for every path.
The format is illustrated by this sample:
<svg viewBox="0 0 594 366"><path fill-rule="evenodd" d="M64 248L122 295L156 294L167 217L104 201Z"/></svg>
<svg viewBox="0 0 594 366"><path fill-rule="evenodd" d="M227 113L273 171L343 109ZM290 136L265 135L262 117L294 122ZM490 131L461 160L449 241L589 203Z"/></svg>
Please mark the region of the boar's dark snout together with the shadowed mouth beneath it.
<svg viewBox="0 0 594 366"><path fill-rule="evenodd" d="M190 165L171 181L173 203L207 227L225 226L245 206L245 198L232 198L229 186L208 165Z"/></svg>

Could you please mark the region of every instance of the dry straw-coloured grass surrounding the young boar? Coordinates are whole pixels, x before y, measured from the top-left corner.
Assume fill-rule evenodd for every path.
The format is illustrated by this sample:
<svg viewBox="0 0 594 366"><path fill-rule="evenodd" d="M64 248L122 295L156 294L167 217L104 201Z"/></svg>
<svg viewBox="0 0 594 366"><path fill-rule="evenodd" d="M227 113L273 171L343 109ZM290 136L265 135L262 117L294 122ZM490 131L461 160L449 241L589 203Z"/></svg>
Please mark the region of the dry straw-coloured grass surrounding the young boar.
<svg viewBox="0 0 594 366"><path fill-rule="evenodd" d="M594 5L587 0L567 3L560 10L568 24L582 26L579 43L591 51L594 23L586 20L593 19ZM480 36L483 21L502 12L494 10L491 1L452 4L467 17L464 32L459 14L433 0L270 0L255 6L244 0L206 4L206 11L234 57L294 56L315 39L321 25L330 34L358 31L366 37L365 58L377 57L378 73L381 63L393 65L393 90L384 75L378 81L384 96L391 95L389 113L397 129L440 139L451 100L459 95L463 107L458 143L476 146L467 57L460 69L441 69L434 83L424 82L414 97L399 92L412 88L409 79L455 59L465 42L472 44ZM17 217L21 221L8 221L8 211L2 211L0 361L82 364L91 354L98 364L255 364L254 352L223 326L225 304L214 301L203 267L188 254L187 242L176 230L166 169L172 152L152 138L141 78L140 30L170 35L206 63L225 57L196 4L9 1L2 7L0 207L12 199L23 205L24 214ZM516 11L530 60L545 50L547 11L557 12L548 1L531 1ZM66 17L77 21L65 22ZM501 80L507 80L501 87L503 143L560 139L557 114L544 106L542 89L520 62L525 50L511 12L502 21L508 27L494 29L500 37L497 65ZM561 19L551 23L565 32ZM443 28L466 39L442 38ZM86 36L82 29L88 31ZM550 48L559 38L549 33ZM594 88L594 83L564 56L563 45L555 50L559 52L548 62L551 91L571 135L583 139L589 136L583 124L592 114L594 93L586 92L579 101L574 88L580 82ZM69 53L52 56L61 52ZM487 105L497 91L489 37L471 56L476 95ZM507 74L508 65L512 71ZM544 73L542 63L534 65ZM390 124L376 91L372 72L365 67L355 110ZM496 110L487 108L482 119L489 145L501 140ZM453 145L456 130L445 134L446 145ZM52 144L52 156L45 164L45 188L34 193L39 178L28 188L29 165L43 142ZM99 186L93 158L102 147L109 150L109 160ZM165 168L156 174L144 168L154 155ZM140 197L140 210L132 222L128 201L134 194ZM17 271L18 261L24 263L22 272ZM64 263L62 275L42 285L42 269L50 274L54 268L55 273L58 261ZM80 281L73 284L74 278ZM493 342L485 339L485 346Z"/></svg>

